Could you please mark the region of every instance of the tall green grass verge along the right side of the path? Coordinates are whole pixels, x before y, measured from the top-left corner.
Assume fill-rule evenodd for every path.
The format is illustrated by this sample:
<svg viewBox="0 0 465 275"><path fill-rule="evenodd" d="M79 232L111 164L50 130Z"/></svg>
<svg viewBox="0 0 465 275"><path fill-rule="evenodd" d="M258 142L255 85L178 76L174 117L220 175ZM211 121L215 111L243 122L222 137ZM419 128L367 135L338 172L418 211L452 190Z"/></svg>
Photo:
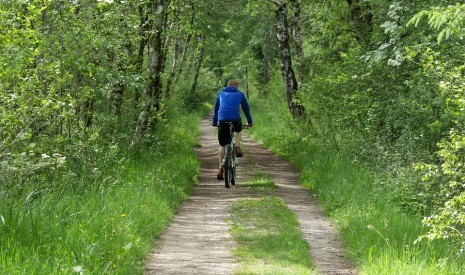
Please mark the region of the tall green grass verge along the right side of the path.
<svg viewBox="0 0 465 275"><path fill-rule="evenodd" d="M375 164L365 167L326 137L291 121L284 95L252 98L253 135L301 171L301 183L338 226L362 274L464 274L465 260L447 242L415 242L421 221L402 213ZM343 148L342 148L343 149Z"/></svg>

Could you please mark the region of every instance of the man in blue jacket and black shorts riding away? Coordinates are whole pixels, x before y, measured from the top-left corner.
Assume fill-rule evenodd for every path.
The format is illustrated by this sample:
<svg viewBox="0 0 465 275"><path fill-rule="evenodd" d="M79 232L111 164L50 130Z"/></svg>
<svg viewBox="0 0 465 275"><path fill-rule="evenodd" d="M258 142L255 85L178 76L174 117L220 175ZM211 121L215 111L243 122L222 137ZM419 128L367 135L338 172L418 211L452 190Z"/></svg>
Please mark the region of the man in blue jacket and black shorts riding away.
<svg viewBox="0 0 465 275"><path fill-rule="evenodd" d="M228 80L226 87L223 88L216 97L215 113L213 116L213 126L218 127L218 141L220 148L218 150L219 171L216 175L218 180L224 180L222 162L224 158L224 147L229 143L229 126L228 122L234 123L234 132L236 139L236 156L243 157L241 148L241 131L242 121L240 107L247 118L247 125L252 126L252 116L250 115L249 104L244 93L239 91L239 81L235 79Z"/></svg>

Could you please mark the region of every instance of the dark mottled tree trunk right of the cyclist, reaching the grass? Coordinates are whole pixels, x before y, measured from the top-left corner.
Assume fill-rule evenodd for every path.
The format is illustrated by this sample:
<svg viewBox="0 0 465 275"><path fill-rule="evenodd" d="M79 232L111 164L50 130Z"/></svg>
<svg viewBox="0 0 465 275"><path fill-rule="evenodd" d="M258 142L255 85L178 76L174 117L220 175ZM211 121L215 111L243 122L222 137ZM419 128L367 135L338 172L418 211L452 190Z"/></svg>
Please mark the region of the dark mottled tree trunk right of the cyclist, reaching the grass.
<svg viewBox="0 0 465 275"><path fill-rule="evenodd" d="M294 119L304 115L304 107L298 102L298 83L292 68L292 58L289 46L289 31L287 21L286 0L275 0L276 9L276 29L279 46L279 56L281 58L281 73L286 86L287 103L289 111Z"/></svg>

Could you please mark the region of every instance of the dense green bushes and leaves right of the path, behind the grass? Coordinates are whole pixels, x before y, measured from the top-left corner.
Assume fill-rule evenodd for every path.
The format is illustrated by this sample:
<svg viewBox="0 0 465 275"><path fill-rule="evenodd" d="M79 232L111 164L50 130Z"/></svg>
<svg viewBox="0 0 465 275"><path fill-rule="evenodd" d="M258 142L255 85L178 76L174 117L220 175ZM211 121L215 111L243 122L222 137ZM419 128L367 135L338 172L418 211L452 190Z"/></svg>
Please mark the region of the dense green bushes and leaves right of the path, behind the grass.
<svg viewBox="0 0 465 275"><path fill-rule="evenodd" d="M317 194L329 201L329 211L350 204L343 198L357 198L361 190L379 189L389 194L380 200L415 217L432 215L426 220L435 236L441 238L438 232L442 230L444 236L454 236L454 242L461 243L461 216L446 212L463 206L464 5L431 8L452 4L433 0L361 2L364 12L372 15L369 41L363 43L354 35L353 28L359 22L351 22L354 18L348 16L347 1L309 1L303 5L309 16L303 26L306 75L299 98L306 118L298 124L286 121L287 117L284 121L292 125L294 133L305 134L300 142L281 131L256 125L258 131L263 131L263 140L272 149L298 163L314 149L294 146L317 144L376 171L372 184L359 184L361 189L354 188L353 193L344 193L340 189L347 189L337 185L331 192ZM421 27L425 16L428 25L439 32L437 36ZM274 74L278 71L276 67L273 70ZM266 125L271 123L275 128L279 125L277 115L271 113L285 110L281 104L285 98L278 91L282 86L278 78L273 77L271 83L274 87L267 103L260 105L258 112L270 113ZM253 86L253 90L260 87ZM328 175L318 176L337 182L331 177L337 174L333 163L320 162L321 166L315 164L318 169L324 170L325 165L332 168L327 168ZM422 171L413 169L418 163ZM350 170L341 169L344 173ZM341 201L333 203L336 196L342 197ZM451 235L452 231L460 234ZM415 230L409 240L424 233Z"/></svg>

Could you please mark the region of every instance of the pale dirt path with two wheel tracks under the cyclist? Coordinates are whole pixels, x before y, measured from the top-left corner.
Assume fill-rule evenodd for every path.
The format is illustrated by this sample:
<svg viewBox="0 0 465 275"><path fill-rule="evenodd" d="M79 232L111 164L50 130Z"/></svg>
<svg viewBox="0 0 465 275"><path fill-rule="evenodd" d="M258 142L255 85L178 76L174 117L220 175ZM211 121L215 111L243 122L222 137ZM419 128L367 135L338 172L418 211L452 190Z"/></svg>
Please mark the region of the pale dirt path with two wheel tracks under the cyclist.
<svg viewBox="0 0 465 275"><path fill-rule="evenodd" d="M211 117L201 122L201 128L202 147L196 150L201 161L199 184L149 255L146 274L232 274L236 268L232 257L235 243L228 232L228 207L235 200L249 196L240 183L257 170L270 175L278 186L278 194L297 214L321 273L356 274L344 258L337 230L311 193L298 185L299 173L292 165L244 137L245 156L238 166L238 184L228 190L222 181L216 180L217 137Z"/></svg>

